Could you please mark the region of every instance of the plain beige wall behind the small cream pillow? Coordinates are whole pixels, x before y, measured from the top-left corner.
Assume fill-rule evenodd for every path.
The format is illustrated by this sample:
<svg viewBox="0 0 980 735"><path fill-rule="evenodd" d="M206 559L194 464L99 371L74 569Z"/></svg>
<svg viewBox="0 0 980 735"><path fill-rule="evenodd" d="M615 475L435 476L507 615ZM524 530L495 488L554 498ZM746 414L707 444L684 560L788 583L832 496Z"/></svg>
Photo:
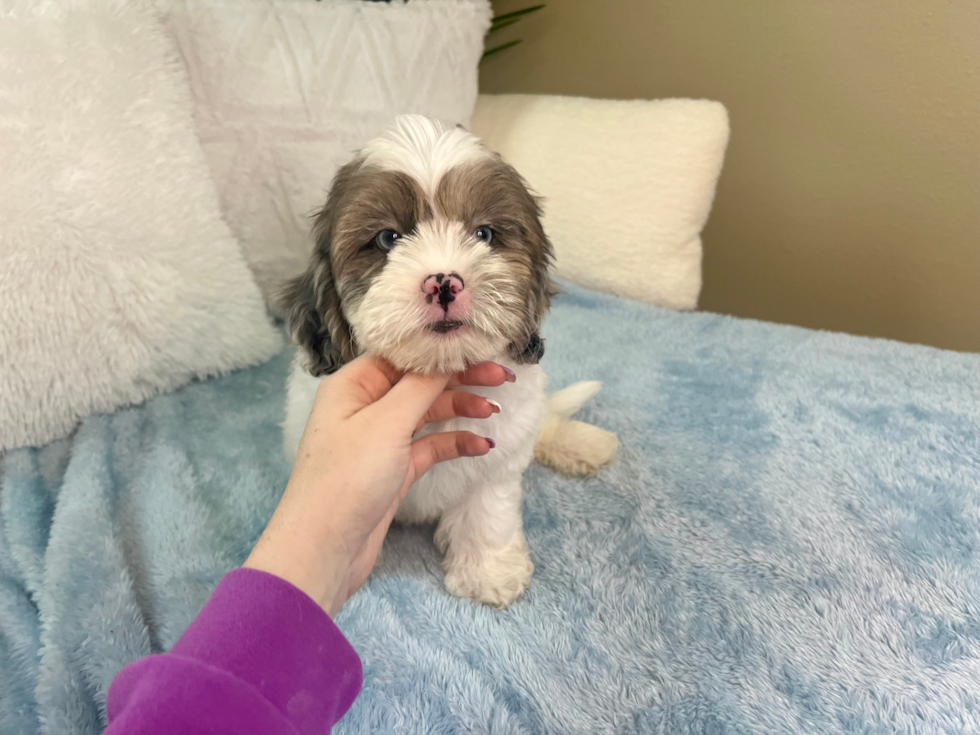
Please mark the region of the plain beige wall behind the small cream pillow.
<svg viewBox="0 0 980 735"><path fill-rule="evenodd" d="M482 91L728 107L701 308L980 351L980 3L544 1Z"/></svg>

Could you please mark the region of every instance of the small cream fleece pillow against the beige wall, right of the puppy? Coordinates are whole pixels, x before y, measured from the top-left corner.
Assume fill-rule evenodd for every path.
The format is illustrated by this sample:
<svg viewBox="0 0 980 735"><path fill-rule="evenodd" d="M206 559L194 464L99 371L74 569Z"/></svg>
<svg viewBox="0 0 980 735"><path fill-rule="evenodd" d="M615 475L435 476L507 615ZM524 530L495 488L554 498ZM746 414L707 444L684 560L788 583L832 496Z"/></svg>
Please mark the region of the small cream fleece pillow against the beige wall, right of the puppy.
<svg viewBox="0 0 980 735"><path fill-rule="evenodd" d="M728 143L720 103L481 95L473 132L544 197L559 274L697 306L701 229Z"/></svg>

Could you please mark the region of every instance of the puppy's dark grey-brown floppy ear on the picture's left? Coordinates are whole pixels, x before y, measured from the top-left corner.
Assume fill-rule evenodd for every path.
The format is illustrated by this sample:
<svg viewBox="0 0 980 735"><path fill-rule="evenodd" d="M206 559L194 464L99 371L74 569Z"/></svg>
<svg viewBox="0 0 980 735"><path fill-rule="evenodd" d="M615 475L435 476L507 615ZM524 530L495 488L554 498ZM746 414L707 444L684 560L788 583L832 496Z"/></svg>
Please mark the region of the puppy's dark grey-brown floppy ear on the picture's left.
<svg viewBox="0 0 980 735"><path fill-rule="evenodd" d="M360 165L354 160L334 176L327 202L313 223L315 244L310 265L303 275L286 284L277 299L293 342L306 354L306 369L315 376L335 372L357 356L334 283L331 245L347 187Z"/></svg>

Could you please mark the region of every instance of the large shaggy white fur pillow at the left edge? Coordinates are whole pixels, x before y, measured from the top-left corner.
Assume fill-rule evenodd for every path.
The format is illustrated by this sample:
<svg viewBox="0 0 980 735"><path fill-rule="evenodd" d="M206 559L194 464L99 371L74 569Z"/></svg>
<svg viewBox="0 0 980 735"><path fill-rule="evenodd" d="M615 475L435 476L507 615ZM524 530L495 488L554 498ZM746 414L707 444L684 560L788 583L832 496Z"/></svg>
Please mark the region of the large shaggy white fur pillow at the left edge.
<svg viewBox="0 0 980 735"><path fill-rule="evenodd" d="M0 452L282 348L139 2L0 6L0 172Z"/></svg>

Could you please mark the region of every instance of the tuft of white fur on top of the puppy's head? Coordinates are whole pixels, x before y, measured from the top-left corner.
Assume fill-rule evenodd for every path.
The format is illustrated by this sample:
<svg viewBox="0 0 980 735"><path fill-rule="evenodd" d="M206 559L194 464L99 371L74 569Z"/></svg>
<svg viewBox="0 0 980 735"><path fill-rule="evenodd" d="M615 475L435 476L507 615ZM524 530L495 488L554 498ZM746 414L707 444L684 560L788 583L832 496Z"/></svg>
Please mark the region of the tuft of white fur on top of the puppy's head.
<svg viewBox="0 0 980 735"><path fill-rule="evenodd" d="M447 171L490 156L472 133L422 115L399 115L361 153L365 164L408 174L430 196Z"/></svg>

